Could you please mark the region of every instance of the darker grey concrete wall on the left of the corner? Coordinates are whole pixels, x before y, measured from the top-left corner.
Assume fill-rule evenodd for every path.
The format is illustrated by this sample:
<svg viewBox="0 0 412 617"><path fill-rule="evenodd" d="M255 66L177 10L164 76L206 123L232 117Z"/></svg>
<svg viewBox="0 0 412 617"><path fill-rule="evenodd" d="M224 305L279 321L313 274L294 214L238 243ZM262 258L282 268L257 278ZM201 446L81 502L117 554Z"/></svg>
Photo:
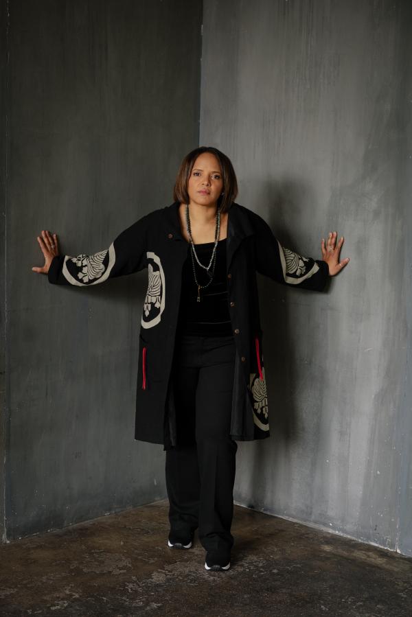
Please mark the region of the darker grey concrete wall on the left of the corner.
<svg viewBox="0 0 412 617"><path fill-rule="evenodd" d="M134 441L147 272L85 290L31 268L43 265L42 229L58 233L62 253L94 253L172 202L177 166L198 143L201 2L1 6L12 539L165 496L163 447Z"/></svg>

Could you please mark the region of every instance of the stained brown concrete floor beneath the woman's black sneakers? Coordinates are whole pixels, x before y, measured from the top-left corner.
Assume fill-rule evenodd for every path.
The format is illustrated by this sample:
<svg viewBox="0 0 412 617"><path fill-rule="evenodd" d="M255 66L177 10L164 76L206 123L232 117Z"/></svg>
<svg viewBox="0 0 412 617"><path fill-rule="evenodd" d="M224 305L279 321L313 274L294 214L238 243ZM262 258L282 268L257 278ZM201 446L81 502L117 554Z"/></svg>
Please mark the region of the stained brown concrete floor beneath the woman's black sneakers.
<svg viewBox="0 0 412 617"><path fill-rule="evenodd" d="M232 567L195 536L167 546L167 502L0 547L0 615L412 615L412 559L236 507Z"/></svg>

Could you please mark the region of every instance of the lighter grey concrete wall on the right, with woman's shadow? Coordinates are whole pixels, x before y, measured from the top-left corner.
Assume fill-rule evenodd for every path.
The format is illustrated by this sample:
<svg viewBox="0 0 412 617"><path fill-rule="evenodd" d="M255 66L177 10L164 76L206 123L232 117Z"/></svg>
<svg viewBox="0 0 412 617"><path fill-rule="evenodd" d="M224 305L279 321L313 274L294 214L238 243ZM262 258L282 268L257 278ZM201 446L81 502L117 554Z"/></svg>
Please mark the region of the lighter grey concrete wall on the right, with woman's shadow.
<svg viewBox="0 0 412 617"><path fill-rule="evenodd" d="M286 246L352 258L323 294L259 279L272 436L236 500L409 555L411 8L205 0L200 139Z"/></svg>

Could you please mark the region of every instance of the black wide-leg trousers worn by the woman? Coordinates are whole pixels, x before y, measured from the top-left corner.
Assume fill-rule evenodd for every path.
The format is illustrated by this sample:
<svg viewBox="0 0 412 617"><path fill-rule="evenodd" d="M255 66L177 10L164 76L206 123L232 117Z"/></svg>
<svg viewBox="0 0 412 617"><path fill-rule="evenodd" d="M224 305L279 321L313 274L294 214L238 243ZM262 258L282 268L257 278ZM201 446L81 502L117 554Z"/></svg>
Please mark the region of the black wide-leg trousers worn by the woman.
<svg viewBox="0 0 412 617"><path fill-rule="evenodd" d="M236 345L233 336L179 336L172 366L176 446L166 450L170 527L198 527L206 550L233 546L238 444L229 434Z"/></svg>

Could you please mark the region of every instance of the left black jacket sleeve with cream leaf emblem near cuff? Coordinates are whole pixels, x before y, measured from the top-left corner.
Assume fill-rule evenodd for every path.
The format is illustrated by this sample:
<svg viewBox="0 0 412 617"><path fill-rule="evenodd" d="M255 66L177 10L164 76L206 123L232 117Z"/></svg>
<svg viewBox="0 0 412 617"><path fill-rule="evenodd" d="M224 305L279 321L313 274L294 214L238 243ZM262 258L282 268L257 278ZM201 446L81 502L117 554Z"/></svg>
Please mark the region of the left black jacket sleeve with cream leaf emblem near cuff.
<svg viewBox="0 0 412 617"><path fill-rule="evenodd" d="M49 283L88 287L143 270L147 263L148 217L146 214L122 231L104 251L77 257L56 255L47 274Z"/></svg>

